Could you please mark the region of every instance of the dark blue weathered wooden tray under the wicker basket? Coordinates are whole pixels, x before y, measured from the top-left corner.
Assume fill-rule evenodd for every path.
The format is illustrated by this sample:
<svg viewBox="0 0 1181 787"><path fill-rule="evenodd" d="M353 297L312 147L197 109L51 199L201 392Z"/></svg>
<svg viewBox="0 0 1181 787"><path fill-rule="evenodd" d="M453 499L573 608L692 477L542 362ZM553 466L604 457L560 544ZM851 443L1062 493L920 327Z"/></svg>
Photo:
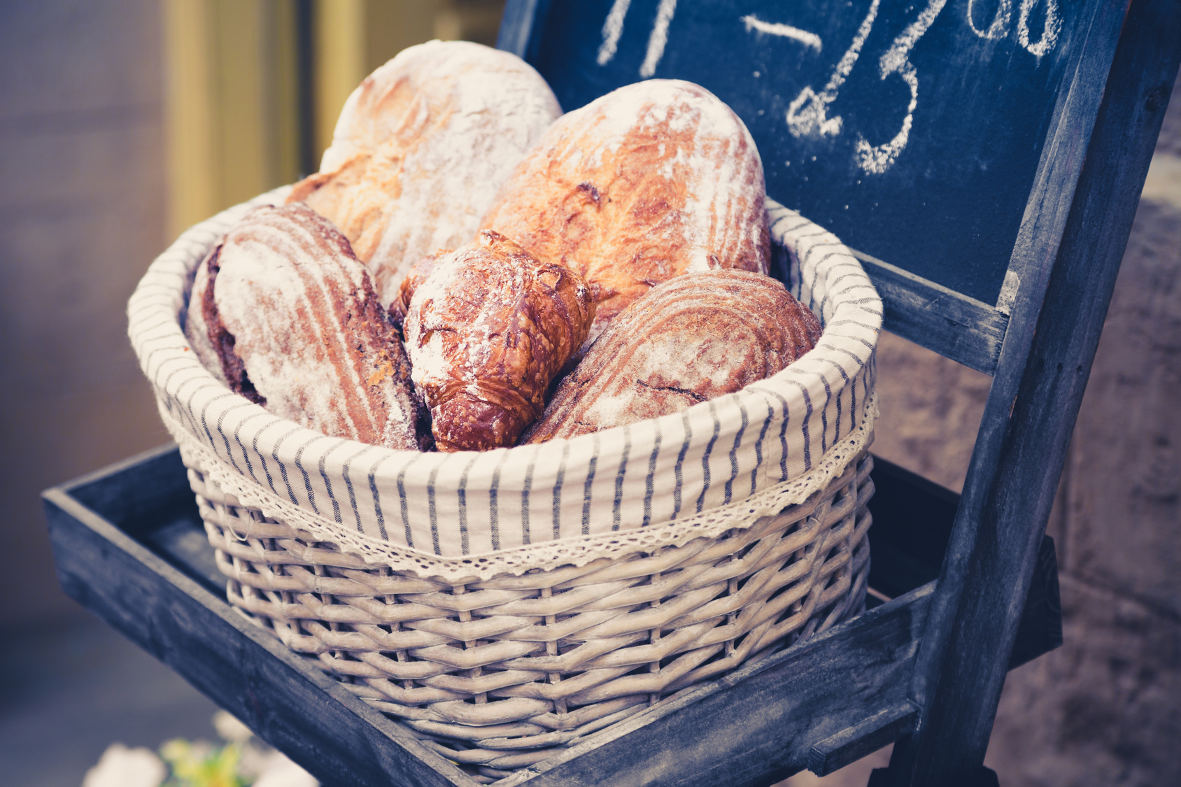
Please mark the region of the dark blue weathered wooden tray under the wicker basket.
<svg viewBox="0 0 1181 787"><path fill-rule="evenodd" d="M804 768L830 773L908 734L918 710L907 692L958 497L875 462L870 585L896 598L498 783L770 785ZM174 445L43 497L66 593L322 783L477 783L227 604ZM1062 642L1050 539L1037 566L1010 666Z"/></svg>

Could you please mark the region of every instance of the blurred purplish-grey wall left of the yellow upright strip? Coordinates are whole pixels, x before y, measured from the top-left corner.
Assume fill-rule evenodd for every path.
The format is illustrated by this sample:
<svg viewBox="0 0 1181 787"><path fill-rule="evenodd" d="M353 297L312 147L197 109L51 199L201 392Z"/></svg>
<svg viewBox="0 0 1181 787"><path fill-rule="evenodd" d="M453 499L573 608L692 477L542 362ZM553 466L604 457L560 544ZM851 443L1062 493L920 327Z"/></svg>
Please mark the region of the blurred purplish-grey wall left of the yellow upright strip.
<svg viewBox="0 0 1181 787"><path fill-rule="evenodd" d="M0 4L0 619L77 606L38 493L168 440L124 307L168 240L161 8Z"/></svg>

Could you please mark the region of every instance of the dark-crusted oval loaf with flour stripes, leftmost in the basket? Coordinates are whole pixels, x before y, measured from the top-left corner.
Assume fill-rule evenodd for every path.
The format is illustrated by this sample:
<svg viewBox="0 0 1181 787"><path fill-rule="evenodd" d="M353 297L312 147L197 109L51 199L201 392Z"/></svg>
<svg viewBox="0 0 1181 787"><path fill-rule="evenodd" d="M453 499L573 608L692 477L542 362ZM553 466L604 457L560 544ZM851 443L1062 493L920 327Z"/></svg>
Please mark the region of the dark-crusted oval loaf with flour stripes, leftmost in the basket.
<svg viewBox="0 0 1181 787"><path fill-rule="evenodd" d="M234 391L332 437L429 444L400 337L327 220L304 204L256 208L205 266L202 318Z"/></svg>

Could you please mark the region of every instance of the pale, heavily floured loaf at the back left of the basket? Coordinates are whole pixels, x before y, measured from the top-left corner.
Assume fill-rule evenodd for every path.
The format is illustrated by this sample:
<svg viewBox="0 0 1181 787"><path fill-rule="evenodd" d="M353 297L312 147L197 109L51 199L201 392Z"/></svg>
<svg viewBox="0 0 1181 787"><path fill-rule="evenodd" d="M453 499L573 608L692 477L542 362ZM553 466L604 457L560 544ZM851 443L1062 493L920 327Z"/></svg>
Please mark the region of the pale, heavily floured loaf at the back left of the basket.
<svg viewBox="0 0 1181 787"><path fill-rule="evenodd" d="M353 91L320 171L295 184L389 305L405 269L471 240L496 189L561 115L521 58L469 41L403 50Z"/></svg>

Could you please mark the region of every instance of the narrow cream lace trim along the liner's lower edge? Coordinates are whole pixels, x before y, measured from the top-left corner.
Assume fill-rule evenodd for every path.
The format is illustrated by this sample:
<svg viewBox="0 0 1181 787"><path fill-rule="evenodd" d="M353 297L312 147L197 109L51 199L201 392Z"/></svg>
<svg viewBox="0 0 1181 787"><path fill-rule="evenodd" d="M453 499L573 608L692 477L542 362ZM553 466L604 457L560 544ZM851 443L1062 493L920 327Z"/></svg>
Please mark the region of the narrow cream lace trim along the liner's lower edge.
<svg viewBox="0 0 1181 787"><path fill-rule="evenodd" d="M857 429L830 448L811 471L729 506L629 531L542 541L515 549L446 558L393 546L363 533L350 532L332 520L317 516L278 497L243 477L190 435L168 415L163 406L159 409L164 425L181 447L184 462L195 464L195 469L205 474L224 493L237 497L242 506L256 508L263 516L304 531L311 540L334 544L341 552L354 554L373 564L374 567L389 566L393 571L454 585L491 579L502 574L520 575L534 568L549 571L566 565L585 566L599 558L683 546L697 538L716 538L729 529L750 527L764 516L778 514L788 506L804 502L813 493L823 489L829 481L840 476L848 463L869 445L874 419L880 416L877 395L873 394L866 403L864 417Z"/></svg>

